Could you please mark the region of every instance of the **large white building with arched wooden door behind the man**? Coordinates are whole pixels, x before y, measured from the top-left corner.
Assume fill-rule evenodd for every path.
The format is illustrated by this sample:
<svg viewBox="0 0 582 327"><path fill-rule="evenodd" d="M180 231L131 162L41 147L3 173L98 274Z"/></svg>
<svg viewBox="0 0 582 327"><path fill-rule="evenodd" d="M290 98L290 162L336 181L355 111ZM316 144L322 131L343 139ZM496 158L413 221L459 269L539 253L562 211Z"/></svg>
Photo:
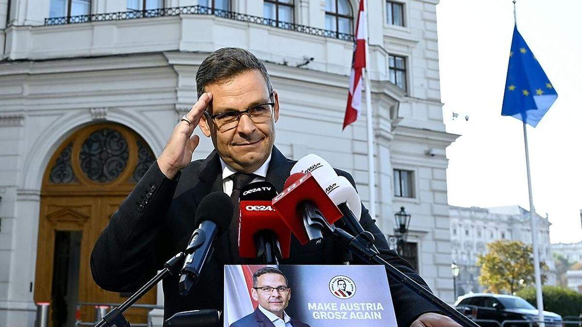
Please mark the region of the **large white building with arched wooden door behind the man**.
<svg viewBox="0 0 582 327"><path fill-rule="evenodd" d="M438 0L369 3L375 218L392 234L395 212L406 207L410 257L450 302L445 148L457 136L442 119ZM342 131L357 6L0 0L0 325L32 326L40 302L51 303L59 325L72 321L76 304L126 298L94 285L88 256L196 102L197 67L218 48L245 48L265 62L281 99L275 144L283 154L313 152L347 170L370 205L368 104ZM201 135L193 159L211 150ZM144 299L162 301L155 292ZM90 321L93 312L81 307L80 315Z"/></svg>

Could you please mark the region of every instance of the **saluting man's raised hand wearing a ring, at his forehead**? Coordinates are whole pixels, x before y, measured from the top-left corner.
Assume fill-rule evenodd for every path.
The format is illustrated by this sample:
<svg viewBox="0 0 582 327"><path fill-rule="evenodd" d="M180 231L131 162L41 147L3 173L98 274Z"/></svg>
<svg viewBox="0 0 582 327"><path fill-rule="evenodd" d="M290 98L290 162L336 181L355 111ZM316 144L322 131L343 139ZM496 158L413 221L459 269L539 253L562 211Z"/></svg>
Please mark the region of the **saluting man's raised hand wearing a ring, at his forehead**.
<svg viewBox="0 0 582 327"><path fill-rule="evenodd" d="M200 137L196 134L193 136L192 133L198 126L203 112L210 105L210 101L212 101L212 93L203 93L200 96L198 102L186 113L186 118L192 122L191 125L184 120L180 120L178 125L174 127L164 151L159 155L157 159L159 169L169 179L173 179L180 169L186 167L192 161L192 153L200 142Z"/></svg>

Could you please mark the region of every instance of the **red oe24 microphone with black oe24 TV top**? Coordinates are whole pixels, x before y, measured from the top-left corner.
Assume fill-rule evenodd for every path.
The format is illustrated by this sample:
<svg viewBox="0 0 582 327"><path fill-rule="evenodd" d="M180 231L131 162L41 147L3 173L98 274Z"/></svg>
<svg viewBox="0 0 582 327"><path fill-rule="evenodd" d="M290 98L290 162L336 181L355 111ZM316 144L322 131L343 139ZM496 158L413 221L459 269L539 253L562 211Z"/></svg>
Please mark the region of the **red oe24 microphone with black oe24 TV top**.
<svg viewBox="0 0 582 327"><path fill-rule="evenodd" d="M241 258L262 257L265 264L289 258L291 231L271 204L276 195L275 187L267 181L250 183L240 191Z"/></svg>

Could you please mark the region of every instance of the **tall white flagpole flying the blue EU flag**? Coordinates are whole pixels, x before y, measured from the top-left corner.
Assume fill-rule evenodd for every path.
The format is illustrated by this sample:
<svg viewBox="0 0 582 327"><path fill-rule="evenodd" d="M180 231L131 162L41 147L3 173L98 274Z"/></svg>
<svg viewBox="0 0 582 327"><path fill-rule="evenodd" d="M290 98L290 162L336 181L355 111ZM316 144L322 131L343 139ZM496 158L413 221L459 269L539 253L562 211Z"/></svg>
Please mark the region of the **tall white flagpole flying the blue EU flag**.
<svg viewBox="0 0 582 327"><path fill-rule="evenodd" d="M515 2L513 0L513 19L517 25L517 15L515 9ZM531 173L530 173L530 152L527 148L527 129L526 122L523 122L523 141L526 146L526 170L527 170L527 189L530 196L530 223L531 223L531 243L534 250L534 278L535 278L535 299L538 305L538 324L544 327L544 298L542 296L542 278L540 269L540 252L538 250L538 232L535 229L536 214L534 208L534 196L531 191Z"/></svg>

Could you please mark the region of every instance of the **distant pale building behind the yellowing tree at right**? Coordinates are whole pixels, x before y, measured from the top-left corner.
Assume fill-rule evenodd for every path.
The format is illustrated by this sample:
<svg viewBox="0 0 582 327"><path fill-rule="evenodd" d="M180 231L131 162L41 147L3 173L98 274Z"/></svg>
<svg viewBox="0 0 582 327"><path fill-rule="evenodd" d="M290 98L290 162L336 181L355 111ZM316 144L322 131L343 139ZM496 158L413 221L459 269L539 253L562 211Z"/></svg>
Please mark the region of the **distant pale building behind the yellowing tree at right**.
<svg viewBox="0 0 582 327"><path fill-rule="evenodd" d="M537 215L538 250L540 260L548 265L545 285L556 285L556 269L549 243L549 226L546 218ZM531 243L530 213L517 205L493 208L450 207L450 236L452 259L460 266L456 279L456 294L484 292L478 277L480 267L477 256L487 254L487 243L496 240Z"/></svg>

